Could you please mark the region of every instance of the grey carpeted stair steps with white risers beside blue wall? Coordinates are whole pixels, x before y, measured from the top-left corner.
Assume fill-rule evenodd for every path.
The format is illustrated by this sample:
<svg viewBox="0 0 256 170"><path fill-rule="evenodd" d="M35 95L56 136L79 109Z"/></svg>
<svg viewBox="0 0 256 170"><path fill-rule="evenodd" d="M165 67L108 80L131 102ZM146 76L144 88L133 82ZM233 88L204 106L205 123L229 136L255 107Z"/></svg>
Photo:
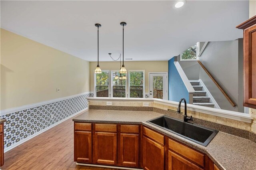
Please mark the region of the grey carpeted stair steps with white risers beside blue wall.
<svg viewBox="0 0 256 170"><path fill-rule="evenodd" d="M214 104L210 103L210 97L208 97L206 91L203 91L203 86L200 85L200 81L190 80L190 83L195 90L195 93L193 94L193 105L214 108Z"/></svg>

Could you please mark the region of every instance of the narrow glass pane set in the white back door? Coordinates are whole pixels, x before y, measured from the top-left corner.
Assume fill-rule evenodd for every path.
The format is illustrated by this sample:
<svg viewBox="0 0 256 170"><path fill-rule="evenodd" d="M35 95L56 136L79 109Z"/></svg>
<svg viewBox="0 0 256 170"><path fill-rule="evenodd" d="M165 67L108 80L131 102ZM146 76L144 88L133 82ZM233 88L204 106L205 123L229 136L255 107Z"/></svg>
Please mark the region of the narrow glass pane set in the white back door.
<svg viewBox="0 0 256 170"><path fill-rule="evenodd" d="M153 76L153 98L163 99L163 76Z"/></svg>

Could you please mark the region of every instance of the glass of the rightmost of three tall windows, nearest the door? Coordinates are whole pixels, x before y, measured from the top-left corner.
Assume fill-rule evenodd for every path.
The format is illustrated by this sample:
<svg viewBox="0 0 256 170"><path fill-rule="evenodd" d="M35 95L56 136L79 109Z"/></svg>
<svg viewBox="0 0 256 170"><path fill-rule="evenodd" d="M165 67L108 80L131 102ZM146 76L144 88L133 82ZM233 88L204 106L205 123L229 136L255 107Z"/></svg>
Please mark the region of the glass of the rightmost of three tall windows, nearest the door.
<svg viewBox="0 0 256 170"><path fill-rule="evenodd" d="M143 98L144 73L143 71L130 71L130 97Z"/></svg>

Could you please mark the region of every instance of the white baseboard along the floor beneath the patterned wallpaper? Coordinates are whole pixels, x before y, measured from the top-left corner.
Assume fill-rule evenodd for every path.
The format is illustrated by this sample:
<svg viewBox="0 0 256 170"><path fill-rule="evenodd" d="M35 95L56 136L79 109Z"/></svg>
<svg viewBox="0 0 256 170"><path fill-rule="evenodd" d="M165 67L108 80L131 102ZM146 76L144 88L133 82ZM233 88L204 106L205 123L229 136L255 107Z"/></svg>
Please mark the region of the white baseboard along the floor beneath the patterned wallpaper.
<svg viewBox="0 0 256 170"><path fill-rule="evenodd" d="M50 128L53 128L53 127L55 127L56 125L59 125L60 123L66 121L66 120L68 120L68 119L70 119L71 117L74 117L75 115L78 115L78 114L80 114L80 113L83 113L83 112L85 112L85 111L87 111L87 110L88 110L88 107L85 108L85 109L83 109L83 110L81 110L81 111L79 111L79 112L77 112L77 113L75 113L74 115L71 115L71 116L69 116L69 117L66 117L65 119L62 119L61 121L59 121L59 122L57 122L57 123L54 123L53 125L51 125L51 126L45 128L45 129L43 129L43 130L41 130L41 131L39 131L39 132L36 132L35 134L32 134L31 136L28 136L27 138L25 138L25 139L23 139L23 140L20 140L19 142L15 143L15 144L13 144L13 145L7 147L7 148L4 148L4 152L8 152L9 150L11 150L11 149L13 149L13 148L19 146L20 144L22 144L22 143L24 143L24 142L26 142L26 141L28 141L28 140L34 138L35 136L37 136L37 135L39 135L39 134L45 132L46 130L49 130Z"/></svg>

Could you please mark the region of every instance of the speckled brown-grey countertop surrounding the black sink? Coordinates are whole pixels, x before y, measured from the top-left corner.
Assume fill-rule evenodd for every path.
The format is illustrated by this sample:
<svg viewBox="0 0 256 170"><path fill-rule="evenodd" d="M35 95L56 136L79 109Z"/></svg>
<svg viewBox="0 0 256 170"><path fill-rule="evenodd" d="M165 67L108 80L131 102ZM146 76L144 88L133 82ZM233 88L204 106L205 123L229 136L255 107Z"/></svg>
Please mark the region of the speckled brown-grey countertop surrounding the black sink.
<svg viewBox="0 0 256 170"><path fill-rule="evenodd" d="M218 168L222 170L255 170L256 143L231 134L218 132L207 146L202 146L146 122L160 116L162 114L152 111L88 110L75 117L73 121L142 124L207 154Z"/></svg>

